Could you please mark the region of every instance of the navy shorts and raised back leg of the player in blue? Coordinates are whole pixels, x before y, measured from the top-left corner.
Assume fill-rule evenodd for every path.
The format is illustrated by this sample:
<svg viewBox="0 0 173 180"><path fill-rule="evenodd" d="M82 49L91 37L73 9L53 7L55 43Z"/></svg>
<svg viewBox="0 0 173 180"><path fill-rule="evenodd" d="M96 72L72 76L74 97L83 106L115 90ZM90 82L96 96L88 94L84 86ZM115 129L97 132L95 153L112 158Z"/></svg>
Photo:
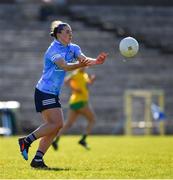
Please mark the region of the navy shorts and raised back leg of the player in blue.
<svg viewBox="0 0 173 180"><path fill-rule="evenodd" d="M19 138L20 151L25 160L28 160L29 147L36 139L52 136L52 133L57 133L63 124L61 104L58 96L35 89L34 98L36 111L42 114L45 123L28 136Z"/></svg>

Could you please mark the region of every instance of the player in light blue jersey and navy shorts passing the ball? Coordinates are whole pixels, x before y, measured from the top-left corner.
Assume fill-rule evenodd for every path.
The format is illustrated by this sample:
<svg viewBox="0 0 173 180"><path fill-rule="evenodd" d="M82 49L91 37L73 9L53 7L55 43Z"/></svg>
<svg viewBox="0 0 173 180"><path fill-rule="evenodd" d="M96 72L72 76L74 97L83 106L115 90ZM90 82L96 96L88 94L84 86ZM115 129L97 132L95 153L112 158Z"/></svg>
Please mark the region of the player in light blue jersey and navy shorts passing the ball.
<svg viewBox="0 0 173 180"><path fill-rule="evenodd" d="M30 164L34 168L47 168L43 156L63 127L64 118L59 95L66 71L103 64L107 57L104 52L96 59L86 57L78 45L71 43L72 29L67 23L54 21L51 36L54 40L45 52L43 73L35 89L36 111L41 113L44 123L31 134L18 140L21 154L28 160L30 145L40 138L39 147Z"/></svg>

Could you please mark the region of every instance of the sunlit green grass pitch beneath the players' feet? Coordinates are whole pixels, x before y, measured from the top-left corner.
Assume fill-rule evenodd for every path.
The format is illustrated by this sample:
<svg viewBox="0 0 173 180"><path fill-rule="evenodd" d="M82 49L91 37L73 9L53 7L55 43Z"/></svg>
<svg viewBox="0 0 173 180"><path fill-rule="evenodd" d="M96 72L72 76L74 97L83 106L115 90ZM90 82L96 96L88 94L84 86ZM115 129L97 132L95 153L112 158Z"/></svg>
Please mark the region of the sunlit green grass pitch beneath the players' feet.
<svg viewBox="0 0 173 180"><path fill-rule="evenodd" d="M22 159L18 137L0 137L0 179L173 179L172 136L90 136L91 150L78 145L79 136L63 136L59 151L45 155L50 170L30 167L38 142Z"/></svg>

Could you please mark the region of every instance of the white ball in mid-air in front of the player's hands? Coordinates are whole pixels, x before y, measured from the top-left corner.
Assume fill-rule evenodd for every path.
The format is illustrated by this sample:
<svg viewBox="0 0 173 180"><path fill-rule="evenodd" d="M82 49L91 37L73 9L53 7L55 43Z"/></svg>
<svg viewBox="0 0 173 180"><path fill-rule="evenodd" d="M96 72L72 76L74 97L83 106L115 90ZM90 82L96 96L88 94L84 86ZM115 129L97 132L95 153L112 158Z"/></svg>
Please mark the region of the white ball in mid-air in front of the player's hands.
<svg viewBox="0 0 173 180"><path fill-rule="evenodd" d="M133 37L126 37L120 41L119 50L126 58L134 57L139 50L138 41Z"/></svg>

